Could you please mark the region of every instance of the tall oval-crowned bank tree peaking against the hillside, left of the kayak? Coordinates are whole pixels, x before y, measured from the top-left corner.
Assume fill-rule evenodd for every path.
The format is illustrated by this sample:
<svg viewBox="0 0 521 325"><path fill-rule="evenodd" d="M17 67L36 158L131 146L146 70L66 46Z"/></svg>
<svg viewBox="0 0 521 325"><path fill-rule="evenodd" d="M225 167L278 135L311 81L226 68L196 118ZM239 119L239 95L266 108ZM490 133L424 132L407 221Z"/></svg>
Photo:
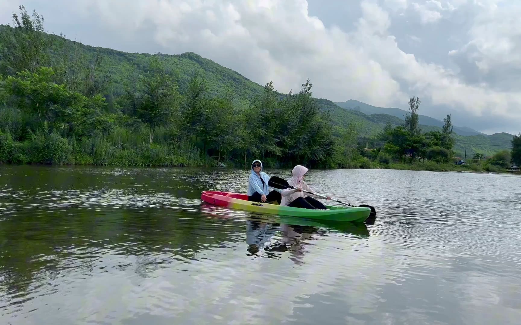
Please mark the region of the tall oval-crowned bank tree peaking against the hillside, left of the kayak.
<svg viewBox="0 0 521 325"><path fill-rule="evenodd" d="M141 77L143 94L138 116L150 126L150 144L157 126L168 125L178 118L181 96L177 83L166 73L157 56L152 56L148 72Z"/></svg>

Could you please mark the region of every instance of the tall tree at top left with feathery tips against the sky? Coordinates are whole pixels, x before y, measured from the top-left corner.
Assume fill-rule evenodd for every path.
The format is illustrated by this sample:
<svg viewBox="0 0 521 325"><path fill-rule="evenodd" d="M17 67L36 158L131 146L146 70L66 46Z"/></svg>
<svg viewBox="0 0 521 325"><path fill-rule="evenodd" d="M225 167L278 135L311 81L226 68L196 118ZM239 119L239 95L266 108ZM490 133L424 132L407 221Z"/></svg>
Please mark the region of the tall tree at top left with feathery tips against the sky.
<svg viewBox="0 0 521 325"><path fill-rule="evenodd" d="M19 8L20 16L13 12L14 28L0 33L0 73L6 75L25 69L35 72L48 60L51 41L44 33L43 17L33 11L31 19L24 6Z"/></svg>

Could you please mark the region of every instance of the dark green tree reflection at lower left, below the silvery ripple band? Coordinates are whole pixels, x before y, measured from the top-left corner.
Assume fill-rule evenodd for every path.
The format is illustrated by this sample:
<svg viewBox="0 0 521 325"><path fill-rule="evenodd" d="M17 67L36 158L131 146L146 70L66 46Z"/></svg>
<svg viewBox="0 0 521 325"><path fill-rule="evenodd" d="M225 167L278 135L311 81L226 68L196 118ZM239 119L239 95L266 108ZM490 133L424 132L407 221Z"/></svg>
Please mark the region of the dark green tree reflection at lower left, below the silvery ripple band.
<svg viewBox="0 0 521 325"><path fill-rule="evenodd" d="M242 236L171 209L142 211L99 207L32 209L0 227L0 306L21 304L64 274L95 276L134 267L146 277L159 267L191 263L197 252ZM184 218L184 219L183 219ZM136 256L135 259L126 259ZM45 285L47 288L40 288Z"/></svg>

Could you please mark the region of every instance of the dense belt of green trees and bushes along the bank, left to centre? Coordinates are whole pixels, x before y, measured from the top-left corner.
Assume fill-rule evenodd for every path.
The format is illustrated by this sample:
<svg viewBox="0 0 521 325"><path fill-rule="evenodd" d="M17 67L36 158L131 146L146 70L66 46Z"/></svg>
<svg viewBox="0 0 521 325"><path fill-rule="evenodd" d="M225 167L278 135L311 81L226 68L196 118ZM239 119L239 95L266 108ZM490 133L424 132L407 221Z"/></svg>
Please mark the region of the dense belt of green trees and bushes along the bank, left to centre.
<svg viewBox="0 0 521 325"><path fill-rule="evenodd" d="M1 161L193 165L206 155L217 161L261 155L317 166L334 156L331 123L311 99L309 82L282 100L268 84L239 111L231 92L209 96L199 77L180 95L152 57L149 72L121 98L125 106L110 112L102 96L73 92L54 76L52 68L40 67L1 81Z"/></svg>

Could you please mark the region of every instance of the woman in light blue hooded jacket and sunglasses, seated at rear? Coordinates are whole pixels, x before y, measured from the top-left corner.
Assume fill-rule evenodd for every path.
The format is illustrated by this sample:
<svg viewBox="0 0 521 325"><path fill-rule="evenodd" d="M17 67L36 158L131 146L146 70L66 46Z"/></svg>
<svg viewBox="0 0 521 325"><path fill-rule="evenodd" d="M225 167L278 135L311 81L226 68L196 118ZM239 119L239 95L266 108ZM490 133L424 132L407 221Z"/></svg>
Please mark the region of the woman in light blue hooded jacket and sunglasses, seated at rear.
<svg viewBox="0 0 521 325"><path fill-rule="evenodd" d="M252 172L248 178L248 201L254 202L273 202L280 204L282 199L281 190L274 188L274 191L268 191L268 174L262 171L262 162L258 159L252 163Z"/></svg>

